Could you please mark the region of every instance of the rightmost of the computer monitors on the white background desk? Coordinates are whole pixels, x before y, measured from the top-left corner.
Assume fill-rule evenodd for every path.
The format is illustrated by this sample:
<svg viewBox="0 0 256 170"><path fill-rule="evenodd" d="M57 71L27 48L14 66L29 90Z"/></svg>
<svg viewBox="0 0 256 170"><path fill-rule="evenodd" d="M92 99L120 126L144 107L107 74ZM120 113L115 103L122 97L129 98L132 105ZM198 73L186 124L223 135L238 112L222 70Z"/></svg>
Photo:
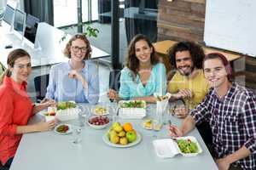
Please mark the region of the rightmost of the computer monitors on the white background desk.
<svg viewBox="0 0 256 170"><path fill-rule="evenodd" d="M31 14L26 14L26 29L24 37L29 42L35 43L37 31L38 31L39 19Z"/></svg>

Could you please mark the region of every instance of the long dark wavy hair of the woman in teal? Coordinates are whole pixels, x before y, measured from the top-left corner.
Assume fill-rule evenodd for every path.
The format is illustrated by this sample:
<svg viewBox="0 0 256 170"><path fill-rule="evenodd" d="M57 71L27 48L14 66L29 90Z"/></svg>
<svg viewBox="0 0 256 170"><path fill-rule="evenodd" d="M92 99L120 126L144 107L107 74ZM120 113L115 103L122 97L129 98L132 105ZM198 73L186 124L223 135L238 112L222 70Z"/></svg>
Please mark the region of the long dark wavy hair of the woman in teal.
<svg viewBox="0 0 256 170"><path fill-rule="evenodd" d="M140 64L139 59L137 59L136 57L135 44L141 40L144 40L145 42L147 42L149 48L152 48L152 53L150 54L151 65L155 65L159 62L159 59L155 55L154 46L148 40L148 37L144 36L143 34L137 34L135 37L131 39L131 42L128 47L128 54L126 57L126 66L132 71L133 80L135 80L135 77L138 74L139 64Z"/></svg>

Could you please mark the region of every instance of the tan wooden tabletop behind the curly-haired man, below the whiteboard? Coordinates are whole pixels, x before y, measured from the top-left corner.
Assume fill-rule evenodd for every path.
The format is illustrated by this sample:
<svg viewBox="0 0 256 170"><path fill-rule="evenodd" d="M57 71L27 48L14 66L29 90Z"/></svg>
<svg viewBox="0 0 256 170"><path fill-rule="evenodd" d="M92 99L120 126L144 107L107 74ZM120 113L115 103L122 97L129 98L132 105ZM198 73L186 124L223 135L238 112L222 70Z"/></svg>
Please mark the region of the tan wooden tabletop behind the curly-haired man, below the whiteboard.
<svg viewBox="0 0 256 170"><path fill-rule="evenodd" d="M168 53L168 49L171 48L175 43L177 43L177 42L172 41L172 40L165 40L165 41L161 41L161 42L155 42L154 43L154 49L155 49L156 53L166 55ZM229 61L234 61L236 59L241 58L240 54L231 54L231 53L224 52L224 51L221 51L221 50L218 50L218 49L207 48L207 47L203 47L203 49L205 51L205 54L210 54L210 53L213 53L213 52L218 52L218 53L224 54L224 56L226 56Z"/></svg>

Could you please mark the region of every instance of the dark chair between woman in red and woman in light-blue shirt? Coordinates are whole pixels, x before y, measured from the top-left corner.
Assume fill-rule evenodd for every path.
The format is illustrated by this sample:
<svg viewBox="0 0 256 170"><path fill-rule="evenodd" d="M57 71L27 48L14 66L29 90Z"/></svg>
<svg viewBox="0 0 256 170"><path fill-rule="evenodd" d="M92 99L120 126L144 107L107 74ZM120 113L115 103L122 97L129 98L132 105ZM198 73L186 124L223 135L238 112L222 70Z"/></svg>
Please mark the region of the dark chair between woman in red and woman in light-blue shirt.
<svg viewBox="0 0 256 170"><path fill-rule="evenodd" d="M49 83L49 74L35 77L34 83L35 83L35 89L36 89L37 102L40 102L42 99L44 99L46 94L46 88Z"/></svg>

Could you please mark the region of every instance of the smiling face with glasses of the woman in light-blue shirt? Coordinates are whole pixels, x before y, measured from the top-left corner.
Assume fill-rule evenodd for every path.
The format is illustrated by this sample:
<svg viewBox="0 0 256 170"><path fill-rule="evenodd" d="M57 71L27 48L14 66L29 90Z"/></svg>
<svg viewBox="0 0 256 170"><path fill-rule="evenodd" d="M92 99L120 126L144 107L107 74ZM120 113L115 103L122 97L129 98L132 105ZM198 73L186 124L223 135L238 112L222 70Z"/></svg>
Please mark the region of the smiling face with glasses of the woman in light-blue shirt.
<svg viewBox="0 0 256 170"><path fill-rule="evenodd" d="M71 59L74 61L83 61L87 52L87 44L82 39L76 39L71 43L70 47Z"/></svg>

